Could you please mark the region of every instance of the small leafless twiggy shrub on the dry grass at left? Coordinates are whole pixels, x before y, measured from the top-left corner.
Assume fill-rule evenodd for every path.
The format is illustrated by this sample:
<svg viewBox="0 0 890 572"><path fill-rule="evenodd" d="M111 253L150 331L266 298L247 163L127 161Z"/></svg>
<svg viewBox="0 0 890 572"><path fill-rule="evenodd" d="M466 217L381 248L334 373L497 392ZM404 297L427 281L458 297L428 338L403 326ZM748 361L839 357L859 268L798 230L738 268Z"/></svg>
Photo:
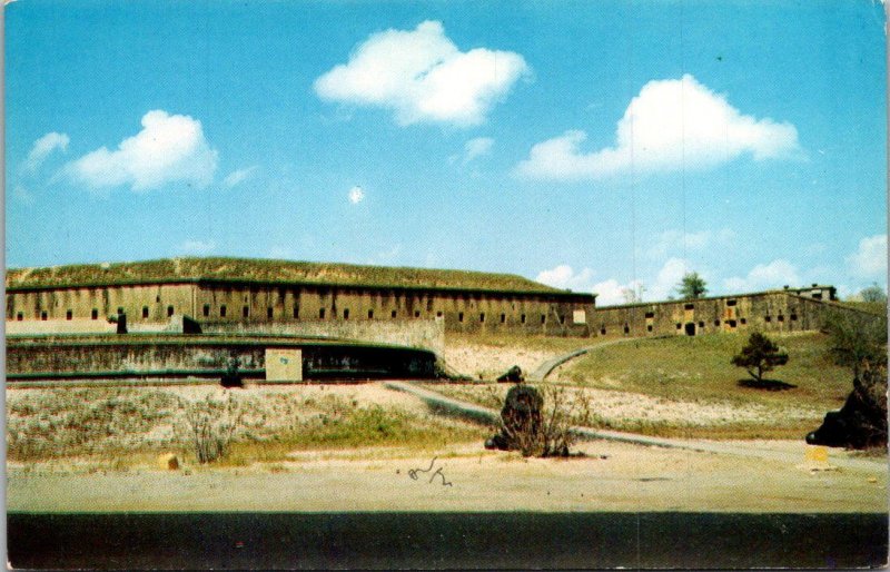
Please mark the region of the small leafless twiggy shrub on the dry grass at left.
<svg viewBox="0 0 890 572"><path fill-rule="evenodd" d="M214 394L194 403L181 403L186 421L186 435L198 463L212 463L226 456L235 432L241 424L244 411L235 395Z"/></svg>

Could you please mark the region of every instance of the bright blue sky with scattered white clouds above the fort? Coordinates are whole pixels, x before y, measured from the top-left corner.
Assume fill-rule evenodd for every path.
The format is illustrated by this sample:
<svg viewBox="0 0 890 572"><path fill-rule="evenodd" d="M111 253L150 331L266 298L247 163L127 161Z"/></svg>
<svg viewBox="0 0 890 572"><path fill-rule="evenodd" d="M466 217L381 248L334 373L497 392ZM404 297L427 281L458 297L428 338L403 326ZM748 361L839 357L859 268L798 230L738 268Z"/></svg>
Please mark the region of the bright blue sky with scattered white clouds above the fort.
<svg viewBox="0 0 890 572"><path fill-rule="evenodd" d="M506 272L621 302L887 284L883 8L7 8L9 267Z"/></svg>

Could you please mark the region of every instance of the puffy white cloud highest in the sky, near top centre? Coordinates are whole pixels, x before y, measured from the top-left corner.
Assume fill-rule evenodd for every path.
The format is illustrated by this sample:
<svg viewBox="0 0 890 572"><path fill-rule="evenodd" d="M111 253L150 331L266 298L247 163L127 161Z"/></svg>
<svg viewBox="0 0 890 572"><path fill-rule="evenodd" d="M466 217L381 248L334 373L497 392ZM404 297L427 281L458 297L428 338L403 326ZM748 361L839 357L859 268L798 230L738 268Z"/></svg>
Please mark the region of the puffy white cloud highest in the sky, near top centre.
<svg viewBox="0 0 890 572"><path fill-rule="evenodd" d="M324 73L314 87L328 101L392 109L403 126L472 126L527 72L521 55L461 51L441 22L425 21L414 30L372 34L347 63Z"/></svg>

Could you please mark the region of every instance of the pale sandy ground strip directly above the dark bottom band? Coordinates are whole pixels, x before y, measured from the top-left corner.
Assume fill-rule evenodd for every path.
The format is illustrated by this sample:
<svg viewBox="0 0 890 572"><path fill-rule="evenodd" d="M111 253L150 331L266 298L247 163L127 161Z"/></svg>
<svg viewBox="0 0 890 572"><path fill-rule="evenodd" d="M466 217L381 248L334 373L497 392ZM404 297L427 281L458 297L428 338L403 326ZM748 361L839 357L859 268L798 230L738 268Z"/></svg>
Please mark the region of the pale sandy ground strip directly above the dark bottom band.
<svg viewBox="0 0 890 572"><path fill-rule="evenodd" d="M433 454L366 448L238 470L66 474L10 465L7 500L9 511L37 512L888 510L886 460L849 462L831 450L834 469L813 471L804 446L769 442L774 454L764 458L592 442L581 446L587 457L570 460L463 445L435 463Z"/></svg>

